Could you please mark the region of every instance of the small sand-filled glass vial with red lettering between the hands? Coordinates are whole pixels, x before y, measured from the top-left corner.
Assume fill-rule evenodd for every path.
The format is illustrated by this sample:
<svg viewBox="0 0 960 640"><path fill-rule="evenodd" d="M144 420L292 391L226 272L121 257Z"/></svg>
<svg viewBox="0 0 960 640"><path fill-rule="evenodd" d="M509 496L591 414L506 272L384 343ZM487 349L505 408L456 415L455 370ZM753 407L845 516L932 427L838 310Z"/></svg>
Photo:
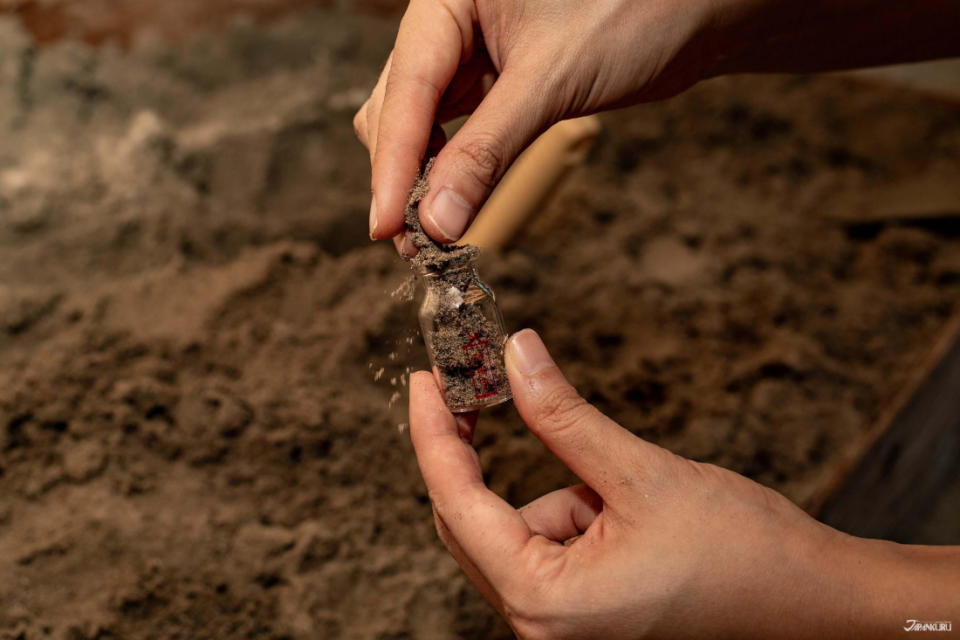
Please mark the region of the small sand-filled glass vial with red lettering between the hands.
<svg viewBox="0 0 960 640"><path fill-rule="evenodd" d="M426 290L420 329L447 407L463 413L509 400L503 317L473 260L421 269L419 277Z"/></svg>

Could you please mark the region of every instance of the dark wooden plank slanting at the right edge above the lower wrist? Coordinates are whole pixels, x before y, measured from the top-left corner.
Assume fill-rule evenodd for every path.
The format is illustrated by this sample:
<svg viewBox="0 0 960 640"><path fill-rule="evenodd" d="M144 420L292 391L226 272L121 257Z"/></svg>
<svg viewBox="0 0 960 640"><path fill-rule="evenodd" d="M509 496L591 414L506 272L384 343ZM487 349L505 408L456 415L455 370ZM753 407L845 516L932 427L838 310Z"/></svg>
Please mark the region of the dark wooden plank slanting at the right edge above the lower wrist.
<svg viewBox="0 0 960 640"><path fill-rule="evenodd" d="M960 311L855 451L811 511L858 536L908 540L960 462Z"/></svg>

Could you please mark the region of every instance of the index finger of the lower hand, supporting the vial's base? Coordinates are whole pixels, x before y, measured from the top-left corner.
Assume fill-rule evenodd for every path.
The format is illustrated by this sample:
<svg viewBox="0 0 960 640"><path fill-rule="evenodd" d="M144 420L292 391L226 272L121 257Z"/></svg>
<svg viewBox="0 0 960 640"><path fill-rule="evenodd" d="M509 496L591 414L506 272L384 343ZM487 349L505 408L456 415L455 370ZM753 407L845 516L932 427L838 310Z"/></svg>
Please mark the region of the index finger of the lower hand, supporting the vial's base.
<svg viewBox="0 0 960 640"><path fill-rule="evenodd" d="M422 371L410 378L410 438L437 515L483 576L502 584L532 533L483 484L476 451L458 434L433 376Z"/></svg>

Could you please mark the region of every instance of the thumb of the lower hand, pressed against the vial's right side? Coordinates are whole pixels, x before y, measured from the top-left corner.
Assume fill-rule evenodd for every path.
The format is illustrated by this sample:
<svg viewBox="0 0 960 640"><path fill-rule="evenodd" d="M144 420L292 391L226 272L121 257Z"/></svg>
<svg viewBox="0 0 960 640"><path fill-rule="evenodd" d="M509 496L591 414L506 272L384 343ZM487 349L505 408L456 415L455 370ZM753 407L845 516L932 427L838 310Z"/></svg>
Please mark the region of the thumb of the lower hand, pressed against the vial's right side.
<svg viewBox="0 0 960 640"><path fill-rule="evenodd" d="M567 467L609 499L637 476L657 473L663 449L633 435L584 400L531 329L514 334L505 351L520 417Z"/></svg>

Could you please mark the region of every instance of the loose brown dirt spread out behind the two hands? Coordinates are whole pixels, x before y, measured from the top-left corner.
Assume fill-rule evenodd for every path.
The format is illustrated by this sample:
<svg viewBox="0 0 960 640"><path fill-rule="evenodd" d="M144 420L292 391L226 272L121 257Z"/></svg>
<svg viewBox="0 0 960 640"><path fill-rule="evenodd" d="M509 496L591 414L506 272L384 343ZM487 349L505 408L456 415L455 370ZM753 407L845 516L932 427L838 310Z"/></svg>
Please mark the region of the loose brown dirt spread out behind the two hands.
<svg viewBox="0 0 960 640"><path fill-rule="evenodd" d="M388 406L426 359L350 121L395 28L121 53L0 24L0 637L509 637ZM840 220L955 190L960 109L731 78L604 126L484 259L508 329L637 434L805 504L960 295L950 225ZM572 480L510 405L476 441L515 504Z"/></svg>

